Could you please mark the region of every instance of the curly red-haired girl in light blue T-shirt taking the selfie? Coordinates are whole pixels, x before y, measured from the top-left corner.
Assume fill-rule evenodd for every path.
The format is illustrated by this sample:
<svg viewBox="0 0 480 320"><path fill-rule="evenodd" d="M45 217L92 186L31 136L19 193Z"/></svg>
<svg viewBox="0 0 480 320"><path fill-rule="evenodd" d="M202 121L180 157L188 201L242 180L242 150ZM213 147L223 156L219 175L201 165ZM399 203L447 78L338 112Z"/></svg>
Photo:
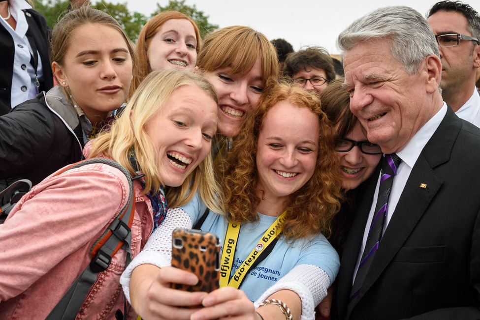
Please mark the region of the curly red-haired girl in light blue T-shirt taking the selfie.
<svg viewBox="0 0 480 320"><path fill-rule="evenodd" d="M221 259L221 288L208 294L170 288L198 281L170 266L173 229L192 228L207 208L195 196L170 209L122 276L126 296L145 319L315 318L340 265L323 235L341 197L334 132L318 97L291 85L270 86L219 160L224 210L209 210L200 228L223 244L236 243L231 262ZM240 225L236 239L232 225ZM271 231L275 236L268 237ZM227 256L225 246L221 250ZM254 251L270 252L260 253L257 264L245 263Z"/></svg>

